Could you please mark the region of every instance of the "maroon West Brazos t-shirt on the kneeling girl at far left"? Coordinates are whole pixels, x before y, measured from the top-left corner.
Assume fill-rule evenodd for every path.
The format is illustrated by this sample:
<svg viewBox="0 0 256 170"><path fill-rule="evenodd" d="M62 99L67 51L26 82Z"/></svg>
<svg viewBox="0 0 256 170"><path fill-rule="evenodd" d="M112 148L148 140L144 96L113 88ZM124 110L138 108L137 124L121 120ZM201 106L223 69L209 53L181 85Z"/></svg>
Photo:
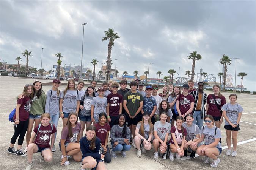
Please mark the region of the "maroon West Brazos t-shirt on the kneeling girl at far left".
<svg viewBox="0 0 256 170"><path fill-rule="evenodd" d="M50 148L51 134L57 132L55 126L51 124L43 126L41 124L39 130L38 127L39 125L33 130L37 134L34 144L37 144L40 148Z"/></svg>

